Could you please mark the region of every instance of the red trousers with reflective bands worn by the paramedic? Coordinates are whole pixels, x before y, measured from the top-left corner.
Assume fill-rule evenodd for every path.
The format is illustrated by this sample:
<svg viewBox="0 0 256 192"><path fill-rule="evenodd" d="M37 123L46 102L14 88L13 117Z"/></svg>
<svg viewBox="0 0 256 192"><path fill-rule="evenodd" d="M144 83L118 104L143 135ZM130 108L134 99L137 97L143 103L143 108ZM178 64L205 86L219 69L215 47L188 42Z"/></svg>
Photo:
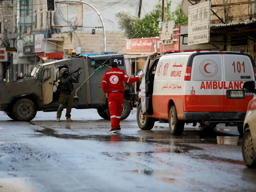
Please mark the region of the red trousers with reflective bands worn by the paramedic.
<svg viewBox="0 0 256 192"><path fill-rule="evenodd" d="M123 100L124 93L108 94L108 106L110 110L111 129L120 127Z"/></svg>

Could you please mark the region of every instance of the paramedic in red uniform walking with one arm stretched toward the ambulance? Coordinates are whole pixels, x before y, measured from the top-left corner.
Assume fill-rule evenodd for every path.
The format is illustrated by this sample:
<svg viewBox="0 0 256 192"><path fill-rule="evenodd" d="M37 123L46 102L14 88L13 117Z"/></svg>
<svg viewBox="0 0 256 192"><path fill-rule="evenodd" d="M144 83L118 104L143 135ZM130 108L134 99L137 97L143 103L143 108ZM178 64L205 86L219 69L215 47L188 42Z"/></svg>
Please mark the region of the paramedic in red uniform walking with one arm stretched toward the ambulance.
<svg viewBox="0 0 256 192"><path fill-rule="evenodd" d="M126 83L134 83L142 79L145 74L140 77L130 78L123 70L118 68L117 62L111 63L111 69L106 71L102 79L102 89L108 98L108 105L110 110L111 130L109 133L120 131L121 112L123 109L124 100L124 85Z"/></svg>

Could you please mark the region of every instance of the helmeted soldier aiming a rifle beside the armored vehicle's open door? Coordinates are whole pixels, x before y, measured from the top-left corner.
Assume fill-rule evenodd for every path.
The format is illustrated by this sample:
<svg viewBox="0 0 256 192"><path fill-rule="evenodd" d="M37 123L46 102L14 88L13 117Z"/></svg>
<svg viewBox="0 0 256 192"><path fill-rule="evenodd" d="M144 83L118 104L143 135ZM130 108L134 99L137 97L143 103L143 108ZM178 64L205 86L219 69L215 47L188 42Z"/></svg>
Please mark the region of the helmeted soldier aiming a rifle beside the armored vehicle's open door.
<svg viewBox="0 0 256 192"><path fill-rule="evenodd" d="M68 69L62 68L59 73L59 89L60 89L60 97L59 97L59 108L57 111L57 122L60 122L61 112L63 111L64 105L66 104L66 118L67 122L73 121L71 117L71 106L72 106L72 98L71 92L73 91L73 83L78 83L80 72L78 71L76 77L72 75L68 76Z"/></svg>

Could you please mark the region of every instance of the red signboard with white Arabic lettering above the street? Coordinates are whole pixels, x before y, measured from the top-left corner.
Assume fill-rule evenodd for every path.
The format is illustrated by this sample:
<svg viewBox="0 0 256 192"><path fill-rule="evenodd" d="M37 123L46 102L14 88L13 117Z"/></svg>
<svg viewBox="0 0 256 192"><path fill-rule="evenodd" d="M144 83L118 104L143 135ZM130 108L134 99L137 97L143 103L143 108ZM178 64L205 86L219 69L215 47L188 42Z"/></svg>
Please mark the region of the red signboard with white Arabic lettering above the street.
<svg viewBox="0 0 256 192"><path fill-rule="evenodd" d="M126 54L143 54L159 52L160 41L159 37L153 38L139 38L139 39L125 39L125 53Z"/></svg>

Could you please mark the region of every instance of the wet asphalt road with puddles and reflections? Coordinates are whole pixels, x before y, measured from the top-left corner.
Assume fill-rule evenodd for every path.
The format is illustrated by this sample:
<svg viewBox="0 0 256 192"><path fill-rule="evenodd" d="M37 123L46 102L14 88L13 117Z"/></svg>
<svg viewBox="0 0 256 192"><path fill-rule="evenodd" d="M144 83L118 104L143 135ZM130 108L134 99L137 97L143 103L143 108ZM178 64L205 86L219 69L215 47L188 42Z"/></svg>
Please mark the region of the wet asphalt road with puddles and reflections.
<svg viewBox="0 0 256 192"><path fill-rule="evenodd" d="M15 122L0 112L0 191L256 191L236 127L190 124L173 137L168 124L141 131L134 109L110 134L95 109L71 115Z"/></svg>

